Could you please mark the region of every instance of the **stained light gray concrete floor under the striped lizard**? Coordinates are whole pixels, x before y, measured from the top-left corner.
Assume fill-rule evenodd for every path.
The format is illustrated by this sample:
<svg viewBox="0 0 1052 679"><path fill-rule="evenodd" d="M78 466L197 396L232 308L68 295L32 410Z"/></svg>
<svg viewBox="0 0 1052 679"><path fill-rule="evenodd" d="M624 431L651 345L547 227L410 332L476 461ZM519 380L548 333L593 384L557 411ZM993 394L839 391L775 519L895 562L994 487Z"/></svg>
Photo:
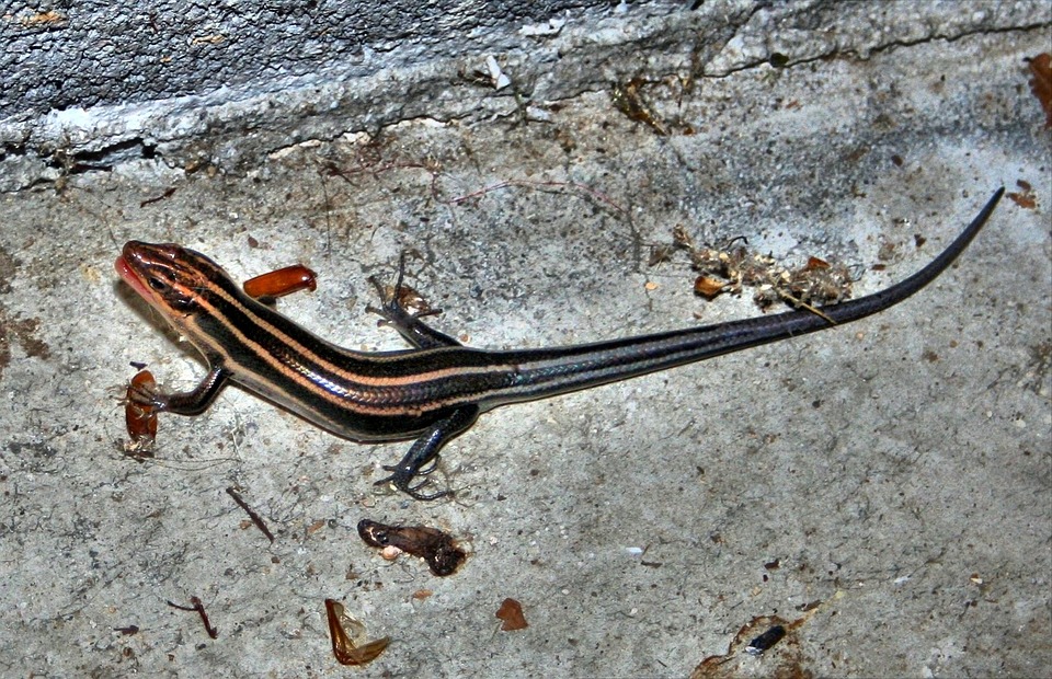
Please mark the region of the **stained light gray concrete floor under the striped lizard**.
<svg viewBox="0 0 1052 679"><path fill-rule="evenodd" d="M904 5L785 31L787 10L752 8L704 59L637 83L666 136L624 115L611 81L528 112L502 100L304 138L241 172L125 160L4 194L0 675L344 676L327 597L392 638L363 676L685 677L765 615L785 641L699 676L1047 674L1052 146L1024 58L1052 46L1052 18L1034 3L1013 28L1007 10L946 3L874 43L900 35L885 7ZM1000 185L1020 195L960 263L880 317L487 415L436 474L456 502L378 494L404 444L342 441L235 389L162 418L155 460L119 450L128 361L172 388L204 371L116 281L128 239L182 242L238 278L306 263L319 290L281 308L361 348L402 346L364 312L366 278L416 249L435 325L545 346L757 313L695 298L682 257L647 266L676 225L847 262L861 295L926 263ZM442 527L473 554L447 578L385 562L355 534L365 517ZM215 641L165 603L191 596ZM498 630L505 597L529 628Z"/></svg>

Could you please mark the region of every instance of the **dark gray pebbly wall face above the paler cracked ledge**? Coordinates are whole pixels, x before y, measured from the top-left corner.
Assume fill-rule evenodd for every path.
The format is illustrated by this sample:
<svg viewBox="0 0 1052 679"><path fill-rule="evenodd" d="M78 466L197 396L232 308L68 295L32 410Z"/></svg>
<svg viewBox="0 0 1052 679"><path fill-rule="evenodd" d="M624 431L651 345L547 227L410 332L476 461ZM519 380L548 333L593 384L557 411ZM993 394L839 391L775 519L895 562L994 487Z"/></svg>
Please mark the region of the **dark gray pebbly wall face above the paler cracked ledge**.
<svg viewBox="0 0 1052 679"><path fill-rule="evenodd" d="M59 2L5 8L0 118L277 90L410 59L502 49L515 28L580 19L598 0Z"/></svg>

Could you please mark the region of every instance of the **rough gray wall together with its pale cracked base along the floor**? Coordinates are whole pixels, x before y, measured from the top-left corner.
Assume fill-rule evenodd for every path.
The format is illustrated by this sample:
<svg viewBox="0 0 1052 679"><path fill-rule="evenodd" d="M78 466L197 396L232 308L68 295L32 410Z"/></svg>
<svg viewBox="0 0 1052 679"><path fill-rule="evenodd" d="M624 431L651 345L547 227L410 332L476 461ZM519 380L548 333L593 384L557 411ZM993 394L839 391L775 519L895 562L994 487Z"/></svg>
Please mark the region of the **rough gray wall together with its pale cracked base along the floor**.
<svg viewBox="0 0 1052 679"><path fill-rule="evenodd" d="M631 78L865 58L1047 20L1029 0L249 4L9 8L0 189L132 159L244 171L290 143L421 116L542 116Z"/></svg>

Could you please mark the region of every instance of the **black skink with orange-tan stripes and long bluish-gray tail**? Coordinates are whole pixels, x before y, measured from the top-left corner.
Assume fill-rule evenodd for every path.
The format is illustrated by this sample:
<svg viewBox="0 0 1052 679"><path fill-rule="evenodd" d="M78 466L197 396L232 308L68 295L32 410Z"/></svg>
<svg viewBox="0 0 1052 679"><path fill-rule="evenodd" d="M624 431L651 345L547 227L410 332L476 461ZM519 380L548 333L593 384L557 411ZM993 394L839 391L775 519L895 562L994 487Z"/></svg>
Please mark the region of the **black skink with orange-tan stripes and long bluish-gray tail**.
<svg viewBox="0 0 1052 679"><path fill-rule="evenodd" d="M934 280L993 212L998 189L964 231L905 280L859 299L576 346L483 350L461 346L404 310L398 295L382 314L414 348L367 353L327 342L241 291L218 264L173 244L130 241L116 261L121 277L205 357L208 375L193 390L137 396L158 411L196 415L237 382L308 422L355 441L416 438L393 467L398 490L418 499L418 474L438 451L499 405L562 394L802 335L877 313ZM428 465L428 469L424 467Z"/></svg>

